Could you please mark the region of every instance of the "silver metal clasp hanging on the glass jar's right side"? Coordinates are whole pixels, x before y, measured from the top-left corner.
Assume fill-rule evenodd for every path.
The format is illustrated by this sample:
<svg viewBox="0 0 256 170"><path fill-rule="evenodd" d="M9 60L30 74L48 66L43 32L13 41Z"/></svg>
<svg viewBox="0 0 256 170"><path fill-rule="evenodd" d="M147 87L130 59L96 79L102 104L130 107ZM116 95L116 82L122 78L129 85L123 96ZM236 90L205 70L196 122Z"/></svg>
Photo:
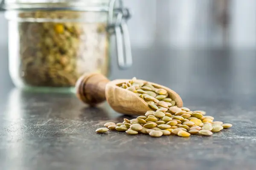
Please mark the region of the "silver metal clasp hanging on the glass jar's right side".
<svg viewBox="0 0 256 170"><path fill-rule="evenodd" d="M116 35L116 50L118 65L121 69L127 69L132 65L131 42L126 21L131 17L128 8L123 8L122 0L119 0L119 8L114 8L116 0L111 0L108 18L108 31ZM116 21L113 21L113 18Z"/></svg>

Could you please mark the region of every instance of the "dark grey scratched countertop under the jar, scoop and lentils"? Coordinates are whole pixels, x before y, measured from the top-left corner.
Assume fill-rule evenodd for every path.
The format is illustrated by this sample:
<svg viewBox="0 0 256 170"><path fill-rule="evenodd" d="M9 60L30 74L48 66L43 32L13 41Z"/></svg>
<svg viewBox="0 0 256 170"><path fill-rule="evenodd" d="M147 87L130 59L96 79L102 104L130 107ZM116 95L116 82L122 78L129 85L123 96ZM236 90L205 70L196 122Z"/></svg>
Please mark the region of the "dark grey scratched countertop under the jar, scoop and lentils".
<svg viewBox="0 0 256 170"><path fill-rule="evenodd" d="M209 137L96 134L122 121L107 103L88 108L74 94L2 88L1 170L254 170L256 51L137 49L134 65L110 79L131 78L172 88L192 110L233 127ZM130 118L131 119L131 118Z"/></svg>

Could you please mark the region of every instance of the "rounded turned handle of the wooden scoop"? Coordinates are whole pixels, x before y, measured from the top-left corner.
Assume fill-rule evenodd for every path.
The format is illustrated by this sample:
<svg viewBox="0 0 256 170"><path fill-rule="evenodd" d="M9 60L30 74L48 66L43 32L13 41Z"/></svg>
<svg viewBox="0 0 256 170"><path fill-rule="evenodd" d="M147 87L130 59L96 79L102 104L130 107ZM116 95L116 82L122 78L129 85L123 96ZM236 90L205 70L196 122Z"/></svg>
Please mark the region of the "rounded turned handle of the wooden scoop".
<svg viewBox="0 0 256 170"><path fill-rule="evenodd" d="M102 74L84 74L76 82L76 96L84 103L94 106L106 100L105 88L110 80Z"/></svg>

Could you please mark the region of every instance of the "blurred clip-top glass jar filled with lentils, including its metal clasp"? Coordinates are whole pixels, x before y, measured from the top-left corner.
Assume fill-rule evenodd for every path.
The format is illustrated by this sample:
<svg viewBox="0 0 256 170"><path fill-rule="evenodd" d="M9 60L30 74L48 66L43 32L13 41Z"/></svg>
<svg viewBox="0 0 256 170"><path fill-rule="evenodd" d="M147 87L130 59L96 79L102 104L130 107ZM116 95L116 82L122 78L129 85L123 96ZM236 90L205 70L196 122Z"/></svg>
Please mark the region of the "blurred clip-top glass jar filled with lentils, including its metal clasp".
<svg viewBox="0 0 256 170"><path fill-rule="evenodd" d="M128 68L132 64L129 11L122 0L116 1L3 0L14 84L29 90L72 91L82 74L108 76L113 33L119 67Z"/></svg>

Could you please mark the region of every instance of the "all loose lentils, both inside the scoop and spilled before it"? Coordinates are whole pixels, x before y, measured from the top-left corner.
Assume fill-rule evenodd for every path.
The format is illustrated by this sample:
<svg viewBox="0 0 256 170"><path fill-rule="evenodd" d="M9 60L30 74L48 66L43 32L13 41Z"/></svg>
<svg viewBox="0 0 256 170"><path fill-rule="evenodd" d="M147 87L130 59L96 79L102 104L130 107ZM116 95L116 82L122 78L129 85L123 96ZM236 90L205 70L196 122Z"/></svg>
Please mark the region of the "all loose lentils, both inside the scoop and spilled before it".
<svg viewBox="0 0 256 170"><path fill-rule="evenodd" d="M105 127L97 129L96 133L117 130L128 135L142 133L152 137L163 135L189 137L191 134L210 136L212 133L232 127L229 123L213 121L214 117L206 116L205 111L178 108L175 102L168 98L166 90L157 89L148 82L144 84L133 78L120 87L137 93L154 111L147 111L145 116L138 116L136 119L124 119L120 123L105 123Z"/></svg>

